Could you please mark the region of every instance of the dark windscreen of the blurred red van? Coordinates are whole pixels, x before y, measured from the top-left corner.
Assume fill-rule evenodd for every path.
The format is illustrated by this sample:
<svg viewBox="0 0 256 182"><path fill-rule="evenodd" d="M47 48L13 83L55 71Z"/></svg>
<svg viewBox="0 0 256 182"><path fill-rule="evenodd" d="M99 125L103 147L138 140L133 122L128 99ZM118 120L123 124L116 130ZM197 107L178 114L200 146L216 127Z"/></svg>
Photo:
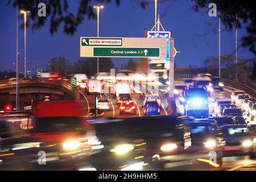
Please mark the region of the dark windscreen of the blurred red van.
<svg viewBox="0 0 256 182"><path fill-rule="evenodd" d="M79 117L43 117L36 118L36 132L71 132L82 131Z"/></svg>

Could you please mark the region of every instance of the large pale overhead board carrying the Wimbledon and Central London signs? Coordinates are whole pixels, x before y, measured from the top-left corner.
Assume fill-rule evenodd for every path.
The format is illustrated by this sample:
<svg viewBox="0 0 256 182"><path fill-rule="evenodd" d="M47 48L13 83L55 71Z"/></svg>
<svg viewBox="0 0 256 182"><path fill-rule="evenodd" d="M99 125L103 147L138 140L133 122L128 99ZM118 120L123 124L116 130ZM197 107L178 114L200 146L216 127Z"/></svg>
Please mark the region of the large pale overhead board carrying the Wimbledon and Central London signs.
<svg viewBox="0 0 256 182"><path fill-rule="evenodd" d="M80 38L80 57L170 58L168 41L166 38Z"/></svg>

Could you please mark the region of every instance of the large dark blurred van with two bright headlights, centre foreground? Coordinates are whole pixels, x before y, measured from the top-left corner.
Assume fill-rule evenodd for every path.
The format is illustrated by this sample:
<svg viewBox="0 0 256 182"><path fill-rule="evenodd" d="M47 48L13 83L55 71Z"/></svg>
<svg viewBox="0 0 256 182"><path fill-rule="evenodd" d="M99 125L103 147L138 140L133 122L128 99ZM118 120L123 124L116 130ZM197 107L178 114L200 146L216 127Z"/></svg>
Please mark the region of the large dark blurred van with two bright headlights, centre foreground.
<svg viewBox="0 0 256 182"><path fill-rule="evenodd" d="M165 164L176 167L181 161L191 166L184 156L191 146L187 120L172 116L98 120L93 124L98 144L92 147L90 168L163 170Z"/></svg>

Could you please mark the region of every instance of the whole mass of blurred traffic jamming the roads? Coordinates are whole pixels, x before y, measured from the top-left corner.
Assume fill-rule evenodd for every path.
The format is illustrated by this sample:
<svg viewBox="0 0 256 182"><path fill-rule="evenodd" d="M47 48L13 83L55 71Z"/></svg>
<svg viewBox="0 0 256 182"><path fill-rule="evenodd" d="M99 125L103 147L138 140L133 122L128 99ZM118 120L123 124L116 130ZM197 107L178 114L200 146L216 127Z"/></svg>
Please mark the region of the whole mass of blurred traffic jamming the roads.
<svg viewBox="0 0 256 182"><path fill-rule="evenodd" d="M255 159L256 100L243 90L199 73L175 81L171 112L167 79L130 84L105 75L45 73L76 77L83 99L46 97L18 113L6 105L1 170L225 170L230 157Z"/></svg>

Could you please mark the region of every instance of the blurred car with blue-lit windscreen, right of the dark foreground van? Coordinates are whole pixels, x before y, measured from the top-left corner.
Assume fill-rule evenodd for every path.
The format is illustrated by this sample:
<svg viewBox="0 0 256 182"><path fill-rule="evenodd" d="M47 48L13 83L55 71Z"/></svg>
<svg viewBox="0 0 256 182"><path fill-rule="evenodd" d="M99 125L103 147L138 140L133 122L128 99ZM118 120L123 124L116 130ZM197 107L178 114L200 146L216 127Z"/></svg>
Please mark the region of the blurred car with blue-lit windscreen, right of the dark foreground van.
<svg viewBox="0 0 256 182"><path fill-rule="evenodd" d="M203 119L196 119L188 122L191 133L191 147L189 150L197 154L209 154L214 150L217 153L218 167L222 166L222 155L225 142L222 137L218 135L218 125L216 122L204 121Z"/></svg>

